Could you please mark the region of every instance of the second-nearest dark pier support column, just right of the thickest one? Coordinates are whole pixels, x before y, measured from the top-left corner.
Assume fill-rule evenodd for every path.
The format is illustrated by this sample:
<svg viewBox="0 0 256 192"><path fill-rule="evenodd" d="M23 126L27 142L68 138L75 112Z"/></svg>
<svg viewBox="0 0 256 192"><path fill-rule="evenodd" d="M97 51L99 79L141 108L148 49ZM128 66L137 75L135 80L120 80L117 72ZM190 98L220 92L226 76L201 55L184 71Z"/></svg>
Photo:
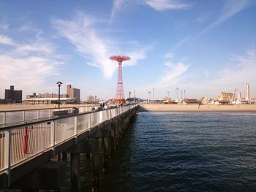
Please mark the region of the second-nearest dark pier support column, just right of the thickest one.
<svg viewBox="0 0 256 192"><path fill-rule="evenodd" d="M91 191L99 191L99 139L94 139L92 150L92 189Z"/></svg>

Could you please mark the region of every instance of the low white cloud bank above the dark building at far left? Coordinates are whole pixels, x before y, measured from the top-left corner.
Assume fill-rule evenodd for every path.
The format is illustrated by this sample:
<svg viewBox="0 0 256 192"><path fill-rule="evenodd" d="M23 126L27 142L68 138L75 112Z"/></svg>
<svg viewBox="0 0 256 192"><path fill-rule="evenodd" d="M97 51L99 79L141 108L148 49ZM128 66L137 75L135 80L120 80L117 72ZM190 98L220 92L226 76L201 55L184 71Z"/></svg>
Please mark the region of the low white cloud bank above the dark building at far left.
<svg viewBox="0 0 256 192"><path fill-rule="evenodd" d="M27 56L15 58L15 55L0 54L1 87L15 85L23 89L23 95L42 91L47 85L46 79L58 74L61 61L53 58ZM1 90L2 91L2 90Z"/></svg>

